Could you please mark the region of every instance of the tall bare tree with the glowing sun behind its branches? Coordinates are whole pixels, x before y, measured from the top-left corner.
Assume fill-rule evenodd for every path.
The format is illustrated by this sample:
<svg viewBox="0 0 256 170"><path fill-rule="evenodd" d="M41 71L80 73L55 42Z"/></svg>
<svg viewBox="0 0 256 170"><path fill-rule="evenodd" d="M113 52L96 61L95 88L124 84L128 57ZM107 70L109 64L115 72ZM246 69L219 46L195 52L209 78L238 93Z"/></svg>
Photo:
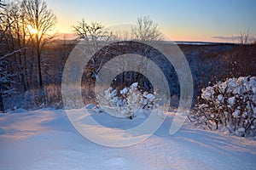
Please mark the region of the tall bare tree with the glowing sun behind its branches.
<svg viewBox="0 0 256 170"><path fill-rule="evenodd" d="M56 16L42 0L24 0L21 3L21 8L25 11L27 31L36 48L39 86L43 88L41 54L45 44L53 37L49 32L52 31L56 24Z"/></svg>

